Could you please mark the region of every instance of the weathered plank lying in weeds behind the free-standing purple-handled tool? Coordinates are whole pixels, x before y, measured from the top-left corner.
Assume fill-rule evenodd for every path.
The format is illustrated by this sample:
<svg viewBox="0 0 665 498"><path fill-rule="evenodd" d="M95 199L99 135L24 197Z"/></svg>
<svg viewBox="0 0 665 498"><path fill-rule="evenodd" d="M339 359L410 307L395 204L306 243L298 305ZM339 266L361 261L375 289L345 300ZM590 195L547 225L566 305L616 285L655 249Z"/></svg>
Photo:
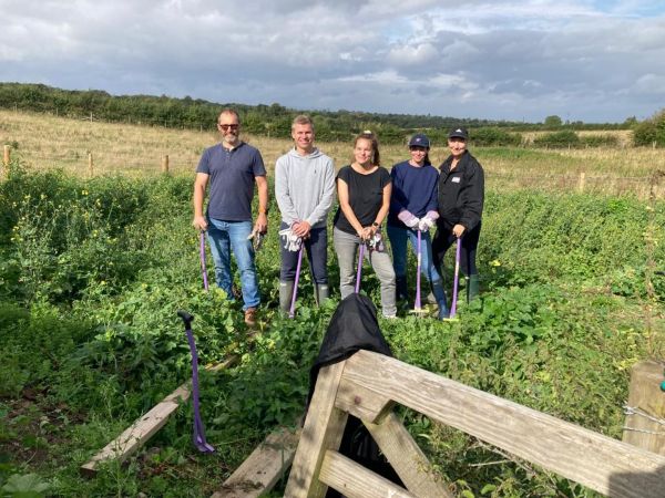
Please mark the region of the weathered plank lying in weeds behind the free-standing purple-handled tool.
<svg viewBox="0 0 665 498"><path fill-rule="evenodd" d="M206 370L216 372L233 366L237 362L238 356L234 355L222 363L206 367ZM186 402L190 398L190 395L191 382L186 382L153 406L120 436L83 464L81 466L81 473L88 476L94 476L101 461L114 459L124 461L127 459L166 424L168 417L177 409L181 403Z"/></svg>

